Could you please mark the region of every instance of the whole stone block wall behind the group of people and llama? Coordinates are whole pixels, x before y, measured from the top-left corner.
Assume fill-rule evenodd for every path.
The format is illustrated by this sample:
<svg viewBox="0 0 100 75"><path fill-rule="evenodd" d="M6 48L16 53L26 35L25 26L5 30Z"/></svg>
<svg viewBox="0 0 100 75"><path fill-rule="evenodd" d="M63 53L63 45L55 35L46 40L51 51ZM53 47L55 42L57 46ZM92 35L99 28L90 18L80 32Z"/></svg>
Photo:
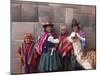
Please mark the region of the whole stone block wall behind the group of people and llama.
<svg viewBox="0 0 100 75"><path fill-rule="evenodd" d="M54 23L54 29L59 34L59 25L64 22L67 23L69 33L71 32L71 20L75 17L86 34L88 48L95 49L95 10L95 6L87 5L21 2L14 0L11 3L11 72L22 72L17 49L23 41L24 33L32 33L36 40L43 31L40 23L45 18Z"/></svg>

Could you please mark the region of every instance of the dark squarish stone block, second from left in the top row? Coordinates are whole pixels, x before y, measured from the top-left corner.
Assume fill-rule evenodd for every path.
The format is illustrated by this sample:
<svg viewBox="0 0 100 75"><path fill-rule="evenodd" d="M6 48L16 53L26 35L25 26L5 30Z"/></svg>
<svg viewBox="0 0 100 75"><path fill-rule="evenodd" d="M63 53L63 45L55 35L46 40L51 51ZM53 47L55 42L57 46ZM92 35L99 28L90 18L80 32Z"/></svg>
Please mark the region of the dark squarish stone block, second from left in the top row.
<svg viewBox="0 0 100 75"><path fill-rule="evenodd" d="M22 22L38 22L38 6L21 4L21 19Z"/></svg>

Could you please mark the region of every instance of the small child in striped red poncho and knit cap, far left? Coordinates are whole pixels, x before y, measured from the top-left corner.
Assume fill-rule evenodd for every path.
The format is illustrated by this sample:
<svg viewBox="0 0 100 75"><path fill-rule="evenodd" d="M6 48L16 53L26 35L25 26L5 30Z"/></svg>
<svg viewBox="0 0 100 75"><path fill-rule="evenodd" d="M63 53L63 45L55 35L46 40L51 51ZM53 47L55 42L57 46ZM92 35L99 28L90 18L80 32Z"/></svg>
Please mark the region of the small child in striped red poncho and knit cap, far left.
<svg viewBox="0 0 100 75"><path fill-rule="evenodd" d="M37 54L34 49L34 42L31 33L24 35L24 42L18 49L18 53L21 58L21 65L25 73L35 72Z"/></svg>

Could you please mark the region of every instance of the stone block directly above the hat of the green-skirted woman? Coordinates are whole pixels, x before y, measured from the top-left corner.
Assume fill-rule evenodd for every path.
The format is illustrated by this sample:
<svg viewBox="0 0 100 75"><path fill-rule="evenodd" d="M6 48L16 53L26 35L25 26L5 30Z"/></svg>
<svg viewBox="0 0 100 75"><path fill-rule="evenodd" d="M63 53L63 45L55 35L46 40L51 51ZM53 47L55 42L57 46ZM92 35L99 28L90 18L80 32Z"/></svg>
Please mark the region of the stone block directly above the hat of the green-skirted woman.
<svg viewBox="0 0 100 75"><path fill-rule="evenodd" d="M54 9L52 7L39 5L38 14L40 22L44 22L45 20L54 21Z"/></svg>

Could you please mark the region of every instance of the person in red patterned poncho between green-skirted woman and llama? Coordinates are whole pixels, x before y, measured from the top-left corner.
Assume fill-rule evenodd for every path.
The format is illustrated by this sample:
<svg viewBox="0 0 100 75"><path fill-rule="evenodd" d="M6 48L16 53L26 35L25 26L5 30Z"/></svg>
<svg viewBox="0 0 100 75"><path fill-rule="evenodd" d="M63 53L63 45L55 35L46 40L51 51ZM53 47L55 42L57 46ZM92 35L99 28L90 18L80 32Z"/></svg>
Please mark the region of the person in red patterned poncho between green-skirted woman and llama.
<svg viewBox="0 0 100 75"><path fill-rule="evenodd" d="M60 36L59 36L59 53L61 55L62 60L62 69L69 70L70 67L70 56L71 56L71 49L72 43L67 40L67 25L62 24L60 26Z"/></svg>

